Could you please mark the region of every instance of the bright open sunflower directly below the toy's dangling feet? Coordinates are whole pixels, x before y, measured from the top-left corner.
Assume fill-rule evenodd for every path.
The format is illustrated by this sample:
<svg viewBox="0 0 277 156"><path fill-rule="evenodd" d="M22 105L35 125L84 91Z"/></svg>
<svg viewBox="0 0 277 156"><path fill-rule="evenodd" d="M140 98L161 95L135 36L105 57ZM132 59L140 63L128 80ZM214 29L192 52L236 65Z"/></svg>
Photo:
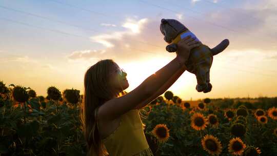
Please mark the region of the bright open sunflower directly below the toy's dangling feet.
<svg viewBox="0 0 277 156"><path fill-rule="evenodd" d="M194 113L191 116L191 127L195 130L204 130L207 127L207 119L201 113Z"/></svg>

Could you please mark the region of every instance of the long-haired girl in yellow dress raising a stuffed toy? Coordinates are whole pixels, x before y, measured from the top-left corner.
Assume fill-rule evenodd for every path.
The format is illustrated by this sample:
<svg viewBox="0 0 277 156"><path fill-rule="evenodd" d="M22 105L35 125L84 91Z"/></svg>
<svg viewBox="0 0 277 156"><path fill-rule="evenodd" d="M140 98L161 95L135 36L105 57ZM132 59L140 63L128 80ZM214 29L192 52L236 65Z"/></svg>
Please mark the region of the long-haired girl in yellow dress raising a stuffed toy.
<svg viewBox="0 0 277 156"><path fill-rule="evenodd" d="M190 50L201 43L187 36L177 43L176 57L134 90L127 73L112 60L101 60L85 73L82 102L83 131L88 156L153 155L138 109L163 94L186 70Z"/></svg>

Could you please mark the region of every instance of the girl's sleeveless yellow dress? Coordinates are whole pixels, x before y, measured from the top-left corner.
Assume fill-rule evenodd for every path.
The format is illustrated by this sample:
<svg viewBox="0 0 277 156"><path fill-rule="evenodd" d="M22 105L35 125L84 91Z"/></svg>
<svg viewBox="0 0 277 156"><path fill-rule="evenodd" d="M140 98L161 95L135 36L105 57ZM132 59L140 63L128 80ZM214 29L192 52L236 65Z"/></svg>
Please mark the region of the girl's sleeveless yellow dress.
<svg viewBox="0 0 277 156"><path fill-rule="evenodd" d="M97 109L96 108L96 113ZM110 156L153 156L145 138L143 123L137 109L121 116L120 126L102 139Z"/></svg>

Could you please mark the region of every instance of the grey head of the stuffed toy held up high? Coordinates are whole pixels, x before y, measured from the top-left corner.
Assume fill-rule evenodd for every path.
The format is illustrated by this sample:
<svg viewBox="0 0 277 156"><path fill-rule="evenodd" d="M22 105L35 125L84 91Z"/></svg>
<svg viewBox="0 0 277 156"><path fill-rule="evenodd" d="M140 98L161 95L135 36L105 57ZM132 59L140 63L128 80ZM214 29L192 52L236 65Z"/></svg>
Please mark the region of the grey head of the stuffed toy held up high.
<svg viewBox="0 0 277 156"><path fill-rule="evenodd" d="M164 35L165 42L171 43L177 35L188 29L175 19L163 18L161 20L160 30Z"/></svg>

